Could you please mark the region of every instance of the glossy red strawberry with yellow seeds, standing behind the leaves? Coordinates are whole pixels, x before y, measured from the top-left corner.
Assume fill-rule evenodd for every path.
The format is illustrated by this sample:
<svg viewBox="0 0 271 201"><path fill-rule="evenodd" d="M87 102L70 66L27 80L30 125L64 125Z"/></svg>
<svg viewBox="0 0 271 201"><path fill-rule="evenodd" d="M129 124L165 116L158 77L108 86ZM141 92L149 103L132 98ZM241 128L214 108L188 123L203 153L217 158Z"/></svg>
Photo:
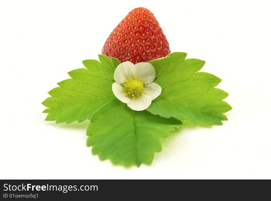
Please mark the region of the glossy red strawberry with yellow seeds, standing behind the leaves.
<svg viewBox="0 0 271 201"><path fill-rule="evenodd" d="M152 12L132 10L112 31L102 54L121 62L148 62L170 53L168 41Z"/></svg>

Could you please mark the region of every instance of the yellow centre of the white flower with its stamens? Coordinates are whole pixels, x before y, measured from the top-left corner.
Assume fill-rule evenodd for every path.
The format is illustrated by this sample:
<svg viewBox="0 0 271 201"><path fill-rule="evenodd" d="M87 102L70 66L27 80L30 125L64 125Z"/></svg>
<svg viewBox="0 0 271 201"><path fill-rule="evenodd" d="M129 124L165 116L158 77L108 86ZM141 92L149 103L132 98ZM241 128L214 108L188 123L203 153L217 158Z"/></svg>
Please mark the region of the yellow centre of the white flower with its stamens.
<svg viewBox="0 0 271 201"><path fill-rule="evenodd" d="M138 77L135 79L133 76L131 76L131 79L126 79L126 83L121 84L121 86L125 95L134 99L145 93L143 90L147 88L144 81L139 80Z"/></svg>

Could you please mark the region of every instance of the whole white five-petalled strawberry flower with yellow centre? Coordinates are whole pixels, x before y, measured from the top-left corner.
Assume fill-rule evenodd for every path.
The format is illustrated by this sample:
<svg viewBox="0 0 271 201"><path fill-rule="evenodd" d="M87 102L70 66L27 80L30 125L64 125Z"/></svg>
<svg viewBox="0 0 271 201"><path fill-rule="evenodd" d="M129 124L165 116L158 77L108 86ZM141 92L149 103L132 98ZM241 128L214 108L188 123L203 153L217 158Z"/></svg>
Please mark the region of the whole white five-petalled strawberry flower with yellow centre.
<svg viewBox="0 0 271 201"><path fill-rule="evenodd" d="M134 65L125 61L115 69L116 82L112 85L112 91L117 99L127 103L132 110L145 110L162 91L158 84L152 82L154 78L152 64L140 62Z"/></svg>

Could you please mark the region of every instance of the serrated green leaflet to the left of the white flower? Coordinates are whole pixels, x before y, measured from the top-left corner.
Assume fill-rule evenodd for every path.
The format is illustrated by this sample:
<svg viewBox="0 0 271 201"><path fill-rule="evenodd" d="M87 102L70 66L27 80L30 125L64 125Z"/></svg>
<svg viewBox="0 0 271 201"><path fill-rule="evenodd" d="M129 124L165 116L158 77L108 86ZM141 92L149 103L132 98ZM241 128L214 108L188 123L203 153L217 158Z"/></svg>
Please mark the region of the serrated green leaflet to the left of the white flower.
<svg viewBox="0 0 271 201"><path fill-rule="evenodd" d="M115 97L112 83L119 61L104 55L99 55L99 60L84 60L87 69L69 72L71 79L59 82L59 87L48 92L51 97L42 102L48 107L43 111L48 113L46 120L56 123L82 122Z"/></svg>

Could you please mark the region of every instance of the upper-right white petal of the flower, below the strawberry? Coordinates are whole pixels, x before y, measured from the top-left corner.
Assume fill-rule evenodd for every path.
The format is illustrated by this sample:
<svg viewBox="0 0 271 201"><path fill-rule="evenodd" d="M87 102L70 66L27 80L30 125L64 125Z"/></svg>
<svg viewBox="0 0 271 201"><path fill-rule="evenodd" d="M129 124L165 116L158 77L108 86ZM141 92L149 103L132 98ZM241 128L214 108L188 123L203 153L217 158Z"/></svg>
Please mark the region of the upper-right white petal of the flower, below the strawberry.
<svg viewBox="0 0 271 201"><path fill-rule="evenodd" d="M145 84L152 83L155 78L155 70L152 64L147 62L140 62L135 64L132 75L134 78L139 77Z"/></svg>

